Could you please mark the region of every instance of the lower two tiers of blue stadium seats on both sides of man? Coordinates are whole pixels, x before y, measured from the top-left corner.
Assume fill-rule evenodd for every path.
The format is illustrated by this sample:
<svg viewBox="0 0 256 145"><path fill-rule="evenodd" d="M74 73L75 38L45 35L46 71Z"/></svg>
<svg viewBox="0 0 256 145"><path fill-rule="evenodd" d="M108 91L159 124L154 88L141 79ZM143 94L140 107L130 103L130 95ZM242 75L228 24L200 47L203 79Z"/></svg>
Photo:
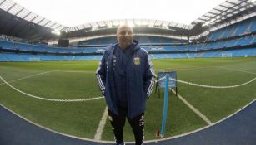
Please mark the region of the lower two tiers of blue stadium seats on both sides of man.
<svg viewBox="0 0 256 145"><path fill-rule="evenodd" d="M223 57L223 52L233 57L255 56L256 36L244 36L228 41L216 41L190 45L144 45L143 48L153 53L153 59L166 58L195 58L195 57ZM31 60L99 60L104 47L51 47L29 45L13 41L0 41L0 61L31 61ZM239 48L243 47L245 48ZM233 50L236 49L236 50ZM216 51L213 51L216 50ZM200 52L204 51L204 52ZM26 52L27 54L23 54ZM177 53L183 52L183 53ZM42 55L42 53L44 55ZM159 53L159 54L156 54ZM167 54L163 54L167 53ZM173 54L168 54L173 53ZM59 55L62 56L59 56ZM77 55L82 56L77 56ZM73 55L73 56L70 56ZM38 58L38 59L34 59Z"/></svg>

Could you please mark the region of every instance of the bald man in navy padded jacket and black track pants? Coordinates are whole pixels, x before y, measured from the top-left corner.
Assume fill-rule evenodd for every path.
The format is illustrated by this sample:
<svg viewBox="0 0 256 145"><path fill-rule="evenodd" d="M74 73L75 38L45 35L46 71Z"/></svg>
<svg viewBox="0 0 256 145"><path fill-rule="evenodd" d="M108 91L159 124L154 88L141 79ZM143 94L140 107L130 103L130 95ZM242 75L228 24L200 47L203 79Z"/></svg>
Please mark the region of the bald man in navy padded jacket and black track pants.
<svg viewBox="0 0 256 145"><path fill-rule="evenodd" d="M138 41L133 41L133 28L118 27L118 43L106 48L96 71L99 88L105 96L108 117L115 141L123 145L126 118L133 128L135 144L143 144L146 100L153 89L154 70Z"/></svg>

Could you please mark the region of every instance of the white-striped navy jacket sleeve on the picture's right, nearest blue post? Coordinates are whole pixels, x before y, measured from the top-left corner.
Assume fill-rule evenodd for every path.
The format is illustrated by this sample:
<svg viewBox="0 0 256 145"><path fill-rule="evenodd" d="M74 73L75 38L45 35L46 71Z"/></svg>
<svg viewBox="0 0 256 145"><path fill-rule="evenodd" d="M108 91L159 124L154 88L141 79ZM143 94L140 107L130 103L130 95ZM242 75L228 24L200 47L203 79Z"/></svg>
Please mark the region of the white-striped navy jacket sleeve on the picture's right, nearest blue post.
<svg viewBox="0 0 256 145"><path fill-rule="evenodd" d="M147 98L149 98L150 94L152 94L152 90L153 90L153 84L154 84L154 80L155 80L155 73L153 70L153 65L151 60L148 57L148 53L147 53L147 57L146 57L146 66L145 66L145 71L144 71L144 92L147 93Z"/></svg>

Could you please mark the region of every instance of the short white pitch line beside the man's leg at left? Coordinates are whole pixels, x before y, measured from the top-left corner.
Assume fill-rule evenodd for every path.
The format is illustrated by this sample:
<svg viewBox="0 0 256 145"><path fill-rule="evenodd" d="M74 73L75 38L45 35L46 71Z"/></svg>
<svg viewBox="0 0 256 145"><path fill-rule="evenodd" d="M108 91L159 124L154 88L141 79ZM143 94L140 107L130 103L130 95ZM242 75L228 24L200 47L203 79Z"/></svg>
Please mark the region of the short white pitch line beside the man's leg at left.
<svg viewBox="0 0 256 145"><path fill-rule="evenodd" d="M98 140L98 141L101 140L102 135L103 135L103 129L107 122L107 118L108 118L108 107L106 107L106 109L103 113L103 117L98 124L98 128L97 128L96 134L94 135L93 139Z"/></svg>

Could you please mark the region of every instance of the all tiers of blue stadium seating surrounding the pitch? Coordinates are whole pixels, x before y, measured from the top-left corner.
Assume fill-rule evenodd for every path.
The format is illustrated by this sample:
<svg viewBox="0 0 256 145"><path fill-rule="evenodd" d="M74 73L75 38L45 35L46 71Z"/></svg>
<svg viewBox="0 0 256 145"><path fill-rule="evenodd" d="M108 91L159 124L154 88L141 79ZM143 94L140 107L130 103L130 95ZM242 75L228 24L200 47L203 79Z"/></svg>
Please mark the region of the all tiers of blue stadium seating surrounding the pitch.
<svg viewBox="0 0 256 145"><path fill-rule="evenodd" d="M208 35L208 41L198 44L188 45L183 40L158 36L135 36L134 38L140 42L142 48L148 51L149 57L153 59L243 57L256 56L255 32L256 17L253 17L213 31ZM109 36L80 42L81 45L86 45L84 47L52 47L0 40L2 50L0 61L100 60L104 48L114 41L116 41L116 37Z"/></svg>

